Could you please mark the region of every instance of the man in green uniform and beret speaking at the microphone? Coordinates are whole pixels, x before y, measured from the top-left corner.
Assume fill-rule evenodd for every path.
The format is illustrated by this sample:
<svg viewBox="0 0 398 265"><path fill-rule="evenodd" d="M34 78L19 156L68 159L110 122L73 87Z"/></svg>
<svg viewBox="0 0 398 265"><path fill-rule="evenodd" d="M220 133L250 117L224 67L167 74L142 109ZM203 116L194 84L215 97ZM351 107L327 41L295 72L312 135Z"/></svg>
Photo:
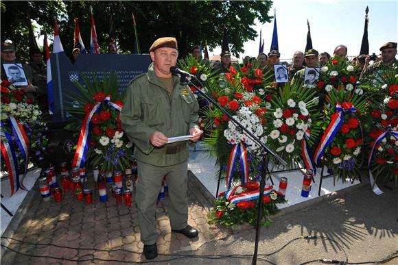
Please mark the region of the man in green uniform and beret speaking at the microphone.
<svg viewBox="0 0 398 265"><path fill-rule="evenodd" d="M135 144L138 161L136 202L143 253L148 260L157 256L156 200L163 177L169 188L169 218L172 231L188 238L198 230L187 223L187 140L168 144L170 137L199 140L198 101L170 67L178 58L175 38L159 38L150 47L152 64L148 73L133 79L121 110L121 126Z"/></svg>

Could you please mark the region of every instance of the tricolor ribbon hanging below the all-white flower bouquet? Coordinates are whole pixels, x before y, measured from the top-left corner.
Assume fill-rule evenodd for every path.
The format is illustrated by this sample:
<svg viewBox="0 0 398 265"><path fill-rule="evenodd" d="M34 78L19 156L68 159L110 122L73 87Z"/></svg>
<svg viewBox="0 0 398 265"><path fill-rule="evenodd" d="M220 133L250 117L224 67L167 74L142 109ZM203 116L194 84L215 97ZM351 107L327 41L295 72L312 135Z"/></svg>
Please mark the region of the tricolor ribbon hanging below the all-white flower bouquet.
<svg viewBox="0 0 398 265"><path fill-rule="evenodd" d="M248 158L246 147L243 142L235 144L232 148L231 155L229 155L228 168L226 171L226 185L231 188L233 171L235 171L235 164L237 157L240 157L240 165L242 166L242 184L248 182Z"/></svg>

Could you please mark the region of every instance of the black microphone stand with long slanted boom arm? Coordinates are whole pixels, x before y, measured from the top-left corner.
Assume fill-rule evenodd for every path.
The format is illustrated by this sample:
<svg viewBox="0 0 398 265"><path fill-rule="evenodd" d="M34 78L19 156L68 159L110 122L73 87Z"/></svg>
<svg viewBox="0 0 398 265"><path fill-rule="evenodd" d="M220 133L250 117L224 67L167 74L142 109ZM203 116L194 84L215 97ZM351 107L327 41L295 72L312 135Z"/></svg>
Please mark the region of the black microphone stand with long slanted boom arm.
<svg viewBox="0 0 398 265"><path fill-rule="evenodd" d="M257 264L257 251L258 251L258 247L259 247L259 236L260 236L260 230L261 230L261 219L262 219L262 215L263 215L264 188L266 186L266 177L268 175L270 175L270 173L268 172L268 154L275 157L279 162L281 162L281 164L283 164L283 166L286 166L288 163L286 163L285 160L282 159L282 157L277 155L277 153L272 151L266 144L264 144L264 142L261 142L261 140L259 138L257 138L257 136L252 134L248 129L246 129L246 127L244 127L244 125L242 125L235 118L233 118L233 116L231 114L229 114L228 112L226 112L226 110L221 108L220 105L218 105L218 103L212 97L209 97L209 95L205 94L194 83L192 83L191 78L187 78L187 76L185 76L185 75L180 75L180 76L181 76L181 79L180 79L181 82L186 82L189 86L193 87L196 91L198 91L199 94L202 95L202 97L207 99L209 102L213 103L213 105L215 105L219 110L221 110L221 112L223 114L228 116L228 118L230 118L231 121L233 121L233 123L235 123L235 125L237 125L239 128L244 130L246 132L246 134L248 134L248 136L250 136L250 138L252 138L252 140L257 142L257 144L259 144L259 146L262 147L262 149L264 150L263 153L261 153L261 156L263 157L261 160L262 171L261 171L261 179L260 179L260 186L259 186L259 203L257 206L255 251L253 253L253 261L252 261L252 264L256 265ZM194 75L189 75L189 77L196 78Z"/></svg>

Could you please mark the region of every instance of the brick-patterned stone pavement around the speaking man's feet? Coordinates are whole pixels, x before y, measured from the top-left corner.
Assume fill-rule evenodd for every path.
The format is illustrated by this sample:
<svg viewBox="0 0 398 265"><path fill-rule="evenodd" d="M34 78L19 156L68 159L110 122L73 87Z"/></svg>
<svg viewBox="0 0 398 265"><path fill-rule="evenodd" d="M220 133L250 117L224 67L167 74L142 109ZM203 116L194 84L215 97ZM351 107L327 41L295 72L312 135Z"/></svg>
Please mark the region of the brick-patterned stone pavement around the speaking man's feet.
<svg viewBox="0 0 398 265"><path fill-rule="evenodd" d="M90 178L89 178L90 179ZM92 178L91 178L92 179ZM207 214L211 201L198 191L197 182L189 175L189 225L199 230L198 238L189 240L181 234L172 234L167 216L167 203L158 201L156 217L160 234L157 244L159 253L176 253L178 251L197 250L205 242L225 238L228 233L215 225L209 225ZM91 260L95 264L117 264L123 262L145 261L143 243L140 241L137 223L137 208L134 201L131 207L124 203L117 204L108 192L108 202L99 201L94 183L88 183L92 188L93 203L86 204L77 201L71 192L63 193L61 203L43 202L38 192L37 184L26 214L21 222L12 229L9 227L3 236L16 240L38 244L24 244L16 240L1 239L1 244L31 255L58 257L57 260L48 257L29 257L1 249L1 264L76 264L76 261ZM134 193L133 193L134 200ZM56 244L61 247L40 244ZM70 249L68 248L70 247ZM96 250L94 250L96 249ZM121 251L115 251L120 249ZM106 251L101 251L106 250ZM130 251L130 252L129 252ZM113 260L113 261L101 261ZM92 264L79 262L79 264Z"/></svg>

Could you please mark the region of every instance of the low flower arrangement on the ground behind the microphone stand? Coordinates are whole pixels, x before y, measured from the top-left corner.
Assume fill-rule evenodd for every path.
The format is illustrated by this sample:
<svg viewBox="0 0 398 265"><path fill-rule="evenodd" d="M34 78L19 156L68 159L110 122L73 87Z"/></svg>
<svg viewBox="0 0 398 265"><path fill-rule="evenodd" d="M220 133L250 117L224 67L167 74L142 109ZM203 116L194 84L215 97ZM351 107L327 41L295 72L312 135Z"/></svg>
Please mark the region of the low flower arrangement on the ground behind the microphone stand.
<svg viewBox="0 0 398 265"><path fill-rule="evenodd" d="M259 203L259 184L248 182L236 186L231 190L222 192L215 200L215 207L210 212L209 218L214 223L220 223L226 227L233 227L249 223L256 225L257 206ZM263 218L261 225L269 227L272 223L270 215L276 214L279 210L277 203L285 203L279 192L272 190L272 187L264 189Z"/></svg>

